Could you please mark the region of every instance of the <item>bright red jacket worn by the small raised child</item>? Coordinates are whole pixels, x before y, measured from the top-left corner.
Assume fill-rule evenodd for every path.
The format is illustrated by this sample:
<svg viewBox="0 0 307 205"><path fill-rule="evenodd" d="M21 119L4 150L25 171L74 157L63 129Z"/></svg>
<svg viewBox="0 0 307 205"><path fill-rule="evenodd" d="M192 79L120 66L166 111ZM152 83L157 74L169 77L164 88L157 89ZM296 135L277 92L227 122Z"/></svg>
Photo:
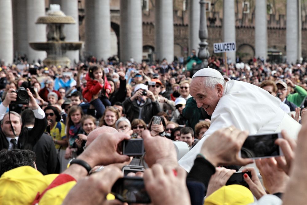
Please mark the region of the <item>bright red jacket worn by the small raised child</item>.
<svg viewBox="0 0 307 205"><path fill-rule="evenodd" d="M90 78L88 74L86 74L85 80L87 80L87 83L86 83L86 87L82 91L82 95L83 95L83 98L85 98L88 102L90 102L93 95L96 95L97 93L99 93L101 89L102 89L101 93L109 97L108 94L106 93L106 89L111 90L111 85L107 81L107 77L104 77L103 79L104 85L101 85L98 81Z"/></svg>

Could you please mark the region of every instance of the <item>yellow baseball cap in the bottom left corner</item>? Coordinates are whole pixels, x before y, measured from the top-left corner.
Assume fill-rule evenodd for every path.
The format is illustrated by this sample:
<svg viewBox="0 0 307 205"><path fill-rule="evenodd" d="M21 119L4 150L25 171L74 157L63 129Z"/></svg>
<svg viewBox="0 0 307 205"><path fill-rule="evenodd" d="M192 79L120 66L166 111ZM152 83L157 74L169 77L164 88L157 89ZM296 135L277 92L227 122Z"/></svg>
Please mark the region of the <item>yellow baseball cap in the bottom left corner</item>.
<svg viewBox="0 0 307 205"><path fill-rule="evenodd" d="M0 204L32 204L37 192L43 192L58 174L43 175L30 166L21 166L2 174Z"/></svg>

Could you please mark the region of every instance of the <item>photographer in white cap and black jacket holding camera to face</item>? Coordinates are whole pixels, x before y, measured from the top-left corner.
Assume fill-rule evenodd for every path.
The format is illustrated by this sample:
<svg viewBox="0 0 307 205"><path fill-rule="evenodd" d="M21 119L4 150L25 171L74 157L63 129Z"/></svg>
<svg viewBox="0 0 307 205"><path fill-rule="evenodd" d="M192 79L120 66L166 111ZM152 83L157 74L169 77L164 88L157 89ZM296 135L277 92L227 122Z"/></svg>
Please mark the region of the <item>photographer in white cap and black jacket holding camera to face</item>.
<svg viewBox="0 0 307 205"><path fill-rule="evenodd" d="M149 123L152 116L160 112L160 105L147 86L138 84L134 88L134 95L123 102L127 113L127 118L131 122L133 119L142 119Z"/></svg>

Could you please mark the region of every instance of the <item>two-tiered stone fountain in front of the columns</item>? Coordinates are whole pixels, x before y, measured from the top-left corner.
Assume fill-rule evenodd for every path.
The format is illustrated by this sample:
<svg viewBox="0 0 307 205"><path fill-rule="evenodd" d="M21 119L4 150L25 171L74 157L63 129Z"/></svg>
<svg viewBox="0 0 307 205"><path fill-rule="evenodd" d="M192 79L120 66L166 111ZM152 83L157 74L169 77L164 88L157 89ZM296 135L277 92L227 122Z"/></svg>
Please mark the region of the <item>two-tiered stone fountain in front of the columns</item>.
<svg viewBox="0 0 307 205"><path fill-rule="evenodd" d="M47 58L43 60L45 65L68 66L70 59L65 56L66 51L74 51L81 48L81 41L66 42L63 33L64 24L75 24L76 21L71 16L66 16L60 5L50 4L50 9L46 16L39 17L36 24L47 24L47 42L31 42L30 46L37 51L46 51Z"/></svg>

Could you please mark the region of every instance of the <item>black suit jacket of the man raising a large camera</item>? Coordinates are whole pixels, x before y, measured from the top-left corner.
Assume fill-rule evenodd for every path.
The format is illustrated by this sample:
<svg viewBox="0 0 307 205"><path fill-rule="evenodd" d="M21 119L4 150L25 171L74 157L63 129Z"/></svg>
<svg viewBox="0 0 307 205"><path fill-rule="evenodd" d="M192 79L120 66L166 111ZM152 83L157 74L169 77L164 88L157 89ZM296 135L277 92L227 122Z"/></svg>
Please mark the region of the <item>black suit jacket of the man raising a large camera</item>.
<svg viewBox="0 0 307 205"><path fill-rule="evenodd" d="M34 127L29 131L28 128L23 127L19 138L18 138L18 149L23 150L33 150L33 146L40 139L41 135L44 133L47 127L47 119L37 119L35 118ZM6 139L6 136L0 131L0 150L8 149L9 142Z"/></svg>

